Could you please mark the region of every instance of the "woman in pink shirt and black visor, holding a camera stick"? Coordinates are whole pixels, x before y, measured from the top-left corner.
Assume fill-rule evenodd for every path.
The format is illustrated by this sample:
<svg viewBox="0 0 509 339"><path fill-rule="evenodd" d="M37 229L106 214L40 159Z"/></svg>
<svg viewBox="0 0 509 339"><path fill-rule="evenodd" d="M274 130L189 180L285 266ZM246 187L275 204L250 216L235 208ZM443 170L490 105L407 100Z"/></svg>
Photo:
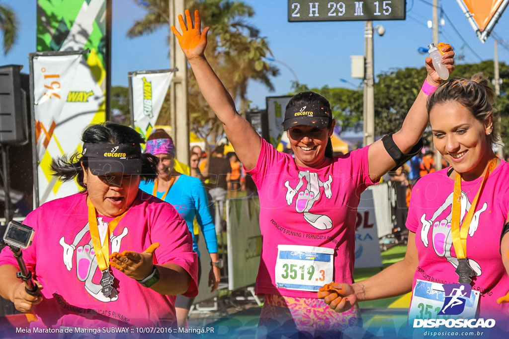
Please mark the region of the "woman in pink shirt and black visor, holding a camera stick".
<svg viewBox="0 0 509 339"><path fill-rule="evenodd" d="M23 221L35 230L23 258L39 292L25 291L5 248L0 295L35 313L32 328L176 325L175 296L197 294L197 255L175 208L138 189L157 176L158 159L142 153L136 131L112 122L89 126L82 140L81 155L52 163L82 191Z"/></svg>

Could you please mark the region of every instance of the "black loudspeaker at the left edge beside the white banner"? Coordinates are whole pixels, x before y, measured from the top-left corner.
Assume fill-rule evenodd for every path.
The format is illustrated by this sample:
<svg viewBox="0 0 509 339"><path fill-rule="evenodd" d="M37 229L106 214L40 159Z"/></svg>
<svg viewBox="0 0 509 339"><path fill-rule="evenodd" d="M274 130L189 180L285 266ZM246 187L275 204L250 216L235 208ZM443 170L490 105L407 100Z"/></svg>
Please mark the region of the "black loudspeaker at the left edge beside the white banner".
<svg viewBox="0 0 509 339"><path fill-rule="evenodd" d="M0 144L28 142L26 92L21 88L21 67L0 67Z"/></svg>

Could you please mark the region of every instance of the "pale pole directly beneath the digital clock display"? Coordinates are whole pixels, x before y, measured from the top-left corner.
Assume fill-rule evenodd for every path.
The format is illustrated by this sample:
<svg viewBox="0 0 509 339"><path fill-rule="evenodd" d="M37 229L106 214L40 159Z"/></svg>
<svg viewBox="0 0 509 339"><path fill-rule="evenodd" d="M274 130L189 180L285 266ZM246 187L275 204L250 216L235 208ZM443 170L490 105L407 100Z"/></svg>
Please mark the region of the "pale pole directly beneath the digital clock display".
<svg viewBox="0 0 509 339"><path fill-rule="evenodd" d="M364 146L375 142L375 88L373 71L373 22L365 21L364 49L366 53L366 71L364 75L365 116Z"/></svg>

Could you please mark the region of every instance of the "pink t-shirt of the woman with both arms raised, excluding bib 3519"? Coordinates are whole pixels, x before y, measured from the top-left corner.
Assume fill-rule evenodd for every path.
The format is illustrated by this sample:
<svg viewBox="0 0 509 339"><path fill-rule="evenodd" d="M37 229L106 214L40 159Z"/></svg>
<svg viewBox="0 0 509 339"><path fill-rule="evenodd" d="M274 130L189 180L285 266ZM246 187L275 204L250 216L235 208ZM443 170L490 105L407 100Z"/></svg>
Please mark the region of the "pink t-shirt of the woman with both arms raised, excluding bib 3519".
<svg viewBox="0 0 509 339"><path fill-rule="evenodd" d="M353 282L357 205L361 192L373 184L367 150L335 157L320 168L303 168L262 139L258 163L249 171L260 195L263 239L256 293L317 297L316 292L276 286L278 245L333 249L333 281Z"/></svg>

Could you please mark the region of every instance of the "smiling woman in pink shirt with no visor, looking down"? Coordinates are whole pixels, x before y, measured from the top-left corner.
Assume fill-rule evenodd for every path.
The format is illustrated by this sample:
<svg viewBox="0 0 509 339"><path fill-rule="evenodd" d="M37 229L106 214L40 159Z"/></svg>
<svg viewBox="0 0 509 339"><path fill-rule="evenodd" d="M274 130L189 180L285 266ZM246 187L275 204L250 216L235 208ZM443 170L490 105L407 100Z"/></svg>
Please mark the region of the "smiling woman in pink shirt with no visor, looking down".
<svg viewBox="0 0 509 339"><path fill-rule="evenodd" d="M429 98L433 141L451 166L413 188L405 259L364 281L325 286L318 296L331 309L348 312L358 301L413 290L410 323L454 316L507 328L509 164L493 152L493 100L480 73L453 78Z"/></svg>

